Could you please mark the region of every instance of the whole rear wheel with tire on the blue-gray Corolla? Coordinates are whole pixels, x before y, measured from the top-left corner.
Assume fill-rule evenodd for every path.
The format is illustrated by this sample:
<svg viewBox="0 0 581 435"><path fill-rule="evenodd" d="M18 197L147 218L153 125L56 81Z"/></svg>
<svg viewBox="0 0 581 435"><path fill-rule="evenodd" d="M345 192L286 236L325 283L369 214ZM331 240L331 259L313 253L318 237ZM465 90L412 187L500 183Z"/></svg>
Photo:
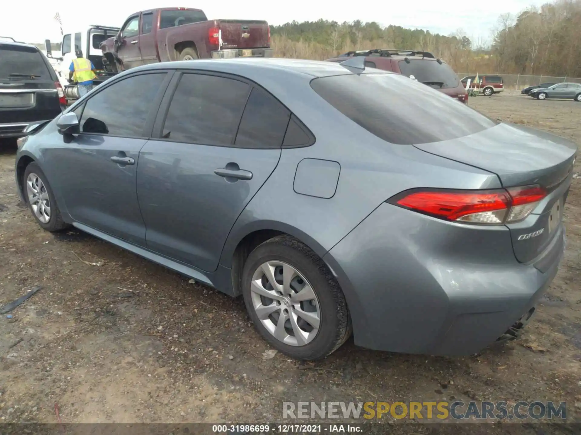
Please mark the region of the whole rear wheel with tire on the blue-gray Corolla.
<svg viewBox="0 0 581 435"><path fill-rule="evenodd" d="M321 258L293 237L271 238L250 253L242 295L257 331L296 360L324 358L351 335L338 282Z"/></svg>

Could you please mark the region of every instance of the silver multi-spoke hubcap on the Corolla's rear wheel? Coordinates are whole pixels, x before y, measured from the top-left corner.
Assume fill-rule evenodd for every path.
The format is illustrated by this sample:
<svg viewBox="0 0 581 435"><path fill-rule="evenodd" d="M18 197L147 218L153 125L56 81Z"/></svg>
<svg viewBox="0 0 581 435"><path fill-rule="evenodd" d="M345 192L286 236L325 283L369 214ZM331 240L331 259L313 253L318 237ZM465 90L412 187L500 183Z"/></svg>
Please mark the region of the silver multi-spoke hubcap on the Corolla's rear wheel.
<svg viewBox="0 0 581 435"><path fill-rule="evenodd" d="M252 306L274 338L290 346L311 342L321 325L317 295L304 276L289 264L262 264L250 284Z"/></svg>

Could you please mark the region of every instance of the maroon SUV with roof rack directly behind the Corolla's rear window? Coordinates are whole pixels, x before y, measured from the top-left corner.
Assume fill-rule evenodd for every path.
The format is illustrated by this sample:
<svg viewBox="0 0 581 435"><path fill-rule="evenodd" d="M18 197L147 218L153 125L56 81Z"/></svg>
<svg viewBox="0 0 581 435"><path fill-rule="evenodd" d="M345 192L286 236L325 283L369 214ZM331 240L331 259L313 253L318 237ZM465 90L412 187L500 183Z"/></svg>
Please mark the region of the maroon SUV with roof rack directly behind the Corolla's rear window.
<svg viewBox="0 0 581 435"><path fill-rule="evenodd" d="M365 56L366 68L378 68L405 75L440 90L462 103L468 103L468 92L458 80L458 75L449 64L436 59L432 53L399 49L360 50L347 52L327 61L342 62L345 57L352 56Z"/></svg>

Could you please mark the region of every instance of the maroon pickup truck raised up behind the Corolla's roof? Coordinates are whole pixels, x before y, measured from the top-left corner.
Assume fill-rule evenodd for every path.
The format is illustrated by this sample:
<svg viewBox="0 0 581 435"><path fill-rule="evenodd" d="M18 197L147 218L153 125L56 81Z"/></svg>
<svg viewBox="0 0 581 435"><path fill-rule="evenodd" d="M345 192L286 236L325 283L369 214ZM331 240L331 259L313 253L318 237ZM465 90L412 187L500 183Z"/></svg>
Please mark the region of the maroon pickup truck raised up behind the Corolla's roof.
<svg viewBox="0 0 581 435"><path fill-rule="evenodd" d="M270 27L260 20L208 20L200 9L160 8L131 14L101 44L105 69L118 73L170 60L272 57Z"/></svg>

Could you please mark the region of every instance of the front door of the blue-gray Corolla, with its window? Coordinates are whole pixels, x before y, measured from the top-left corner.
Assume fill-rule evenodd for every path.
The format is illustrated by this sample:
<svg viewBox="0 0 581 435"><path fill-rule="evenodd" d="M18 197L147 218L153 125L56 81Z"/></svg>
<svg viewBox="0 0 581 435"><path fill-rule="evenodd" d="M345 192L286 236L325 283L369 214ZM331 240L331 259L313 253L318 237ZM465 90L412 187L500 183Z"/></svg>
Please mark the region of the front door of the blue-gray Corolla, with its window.
<svg viewBox="0 0 581 435"><path fill-rule="evenodd" d="M137 162L168 82L167 71L149 71L102 85L74 110L80 133L46 150L47 167L58 168L48 176L76 222L145 245Z"/></svg>

